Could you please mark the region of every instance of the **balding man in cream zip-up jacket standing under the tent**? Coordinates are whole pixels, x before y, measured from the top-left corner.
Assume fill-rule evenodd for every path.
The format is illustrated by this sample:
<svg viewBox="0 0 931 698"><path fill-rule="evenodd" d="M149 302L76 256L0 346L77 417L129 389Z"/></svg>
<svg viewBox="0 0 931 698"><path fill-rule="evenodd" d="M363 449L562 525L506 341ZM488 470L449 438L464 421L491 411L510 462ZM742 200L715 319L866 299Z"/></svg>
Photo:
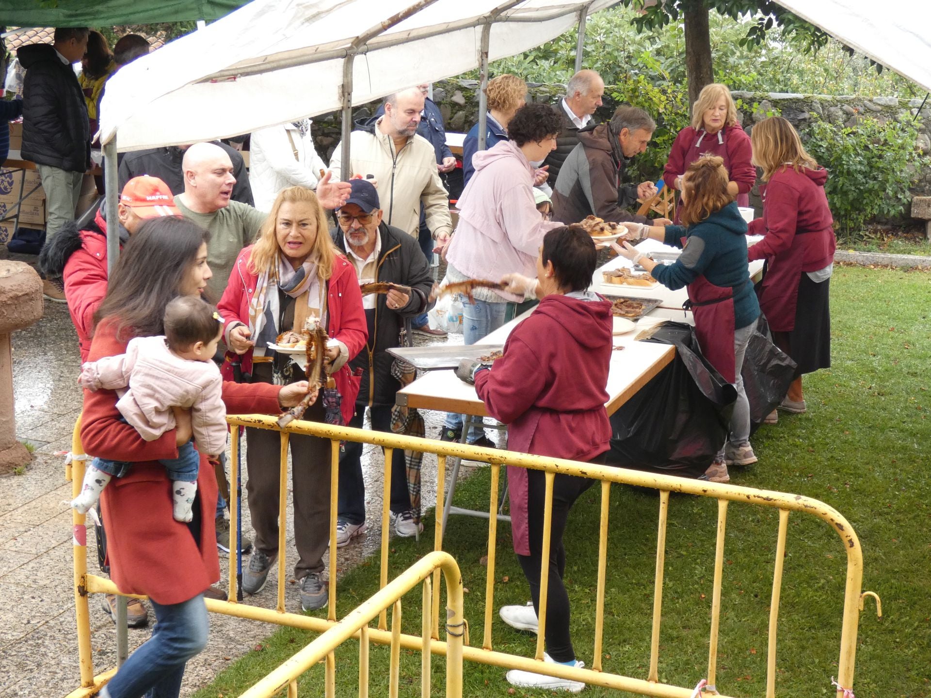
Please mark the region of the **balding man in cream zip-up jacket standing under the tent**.
<svg viewBox="0 0 931 698"><path fill-rule="evenodd" d="M449 195L437 170L433 146L417 135L424 95L416 87L385 97L385 115L358 122L349 139L349 176L374 179L385 223L417 239L420 207L438 245L452 234ZM330 162L333 178L342 174L342 143ZM370 177L371 176L371 177Z"/></svg>

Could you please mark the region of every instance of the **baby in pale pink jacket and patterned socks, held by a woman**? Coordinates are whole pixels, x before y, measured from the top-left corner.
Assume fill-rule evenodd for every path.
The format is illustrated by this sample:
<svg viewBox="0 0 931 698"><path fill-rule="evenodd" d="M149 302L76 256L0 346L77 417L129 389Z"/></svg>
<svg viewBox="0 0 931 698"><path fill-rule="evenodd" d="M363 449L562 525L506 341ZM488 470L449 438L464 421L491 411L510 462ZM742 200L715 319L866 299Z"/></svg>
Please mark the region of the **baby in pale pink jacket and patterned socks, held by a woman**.
<svg viewBox="0 0 931 698"><path fill-rule="evenodd" d="M171 478L173 515L193 517L200 455L217 458L226 448L226 408L223 379L213 363L223 337L223 318L216 308L195 296L182 296L165 309L165 335L130 340L126 354L88 362L79 382L90 390L116 390L116 408L146 441L175 428L172 408L191 410L193 441L178 449L178 458L162 460ZM85 514L101 498L111 477L123 477L131 463L95 458L72 507Z"/></svg>

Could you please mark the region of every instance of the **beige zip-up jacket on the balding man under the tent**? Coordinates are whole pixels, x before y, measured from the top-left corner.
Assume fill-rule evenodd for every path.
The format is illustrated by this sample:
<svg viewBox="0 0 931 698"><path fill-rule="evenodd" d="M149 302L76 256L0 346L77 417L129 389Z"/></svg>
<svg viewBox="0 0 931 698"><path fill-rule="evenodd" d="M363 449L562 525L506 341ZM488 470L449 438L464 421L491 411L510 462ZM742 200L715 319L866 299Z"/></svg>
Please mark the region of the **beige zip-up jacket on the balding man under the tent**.
<svg viewBox="0 0 931 698"><path fill-rule="evenodd" d="M423 136L414 135L395 154L394 142L378 128L381 121L369 122L364 130L350 134L350 176L374 176L388 225L417 237L423 203L430 233L434 237L443 231L452 233L449 194L439 179L433 146ZM330 161L334 180L342 174L342 145L336 146Z"/></svg>

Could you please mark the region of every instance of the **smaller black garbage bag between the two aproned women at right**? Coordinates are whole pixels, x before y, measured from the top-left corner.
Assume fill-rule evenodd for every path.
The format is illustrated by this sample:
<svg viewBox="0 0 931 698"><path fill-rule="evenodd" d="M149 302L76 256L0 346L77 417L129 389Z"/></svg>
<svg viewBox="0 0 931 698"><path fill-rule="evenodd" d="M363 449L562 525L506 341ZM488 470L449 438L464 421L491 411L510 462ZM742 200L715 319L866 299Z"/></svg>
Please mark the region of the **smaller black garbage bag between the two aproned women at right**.
<svg viewBox="0 0 931 698"><path fill-rule="evenodd" d="M750 403L750 434L760 428L766 415L776 409L795 378L796 364L770 337L769 324L760 315L750 336L740 375Z"/></svg>

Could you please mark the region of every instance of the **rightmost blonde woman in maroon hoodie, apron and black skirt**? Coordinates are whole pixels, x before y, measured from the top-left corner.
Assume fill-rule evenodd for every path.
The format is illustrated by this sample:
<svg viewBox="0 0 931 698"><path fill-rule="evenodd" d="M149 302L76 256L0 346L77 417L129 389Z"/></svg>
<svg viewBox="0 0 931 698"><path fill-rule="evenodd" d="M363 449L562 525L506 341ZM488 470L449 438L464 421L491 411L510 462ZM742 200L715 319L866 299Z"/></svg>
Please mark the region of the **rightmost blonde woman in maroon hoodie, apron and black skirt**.
<svg viewBox="0 0 931 698"><path fill-rule="evenodd" d="M753 127L753 163L762 168L762 218L751 235L749 260L766 260L759 291L773 341L798 364L789 394L779 405L805 411L802 375L830 368L830 275L834 268L834 219L824 183L828 170L805 152L799 134L781 116ZM776 422L776 411L766 418Z"/></svg>

